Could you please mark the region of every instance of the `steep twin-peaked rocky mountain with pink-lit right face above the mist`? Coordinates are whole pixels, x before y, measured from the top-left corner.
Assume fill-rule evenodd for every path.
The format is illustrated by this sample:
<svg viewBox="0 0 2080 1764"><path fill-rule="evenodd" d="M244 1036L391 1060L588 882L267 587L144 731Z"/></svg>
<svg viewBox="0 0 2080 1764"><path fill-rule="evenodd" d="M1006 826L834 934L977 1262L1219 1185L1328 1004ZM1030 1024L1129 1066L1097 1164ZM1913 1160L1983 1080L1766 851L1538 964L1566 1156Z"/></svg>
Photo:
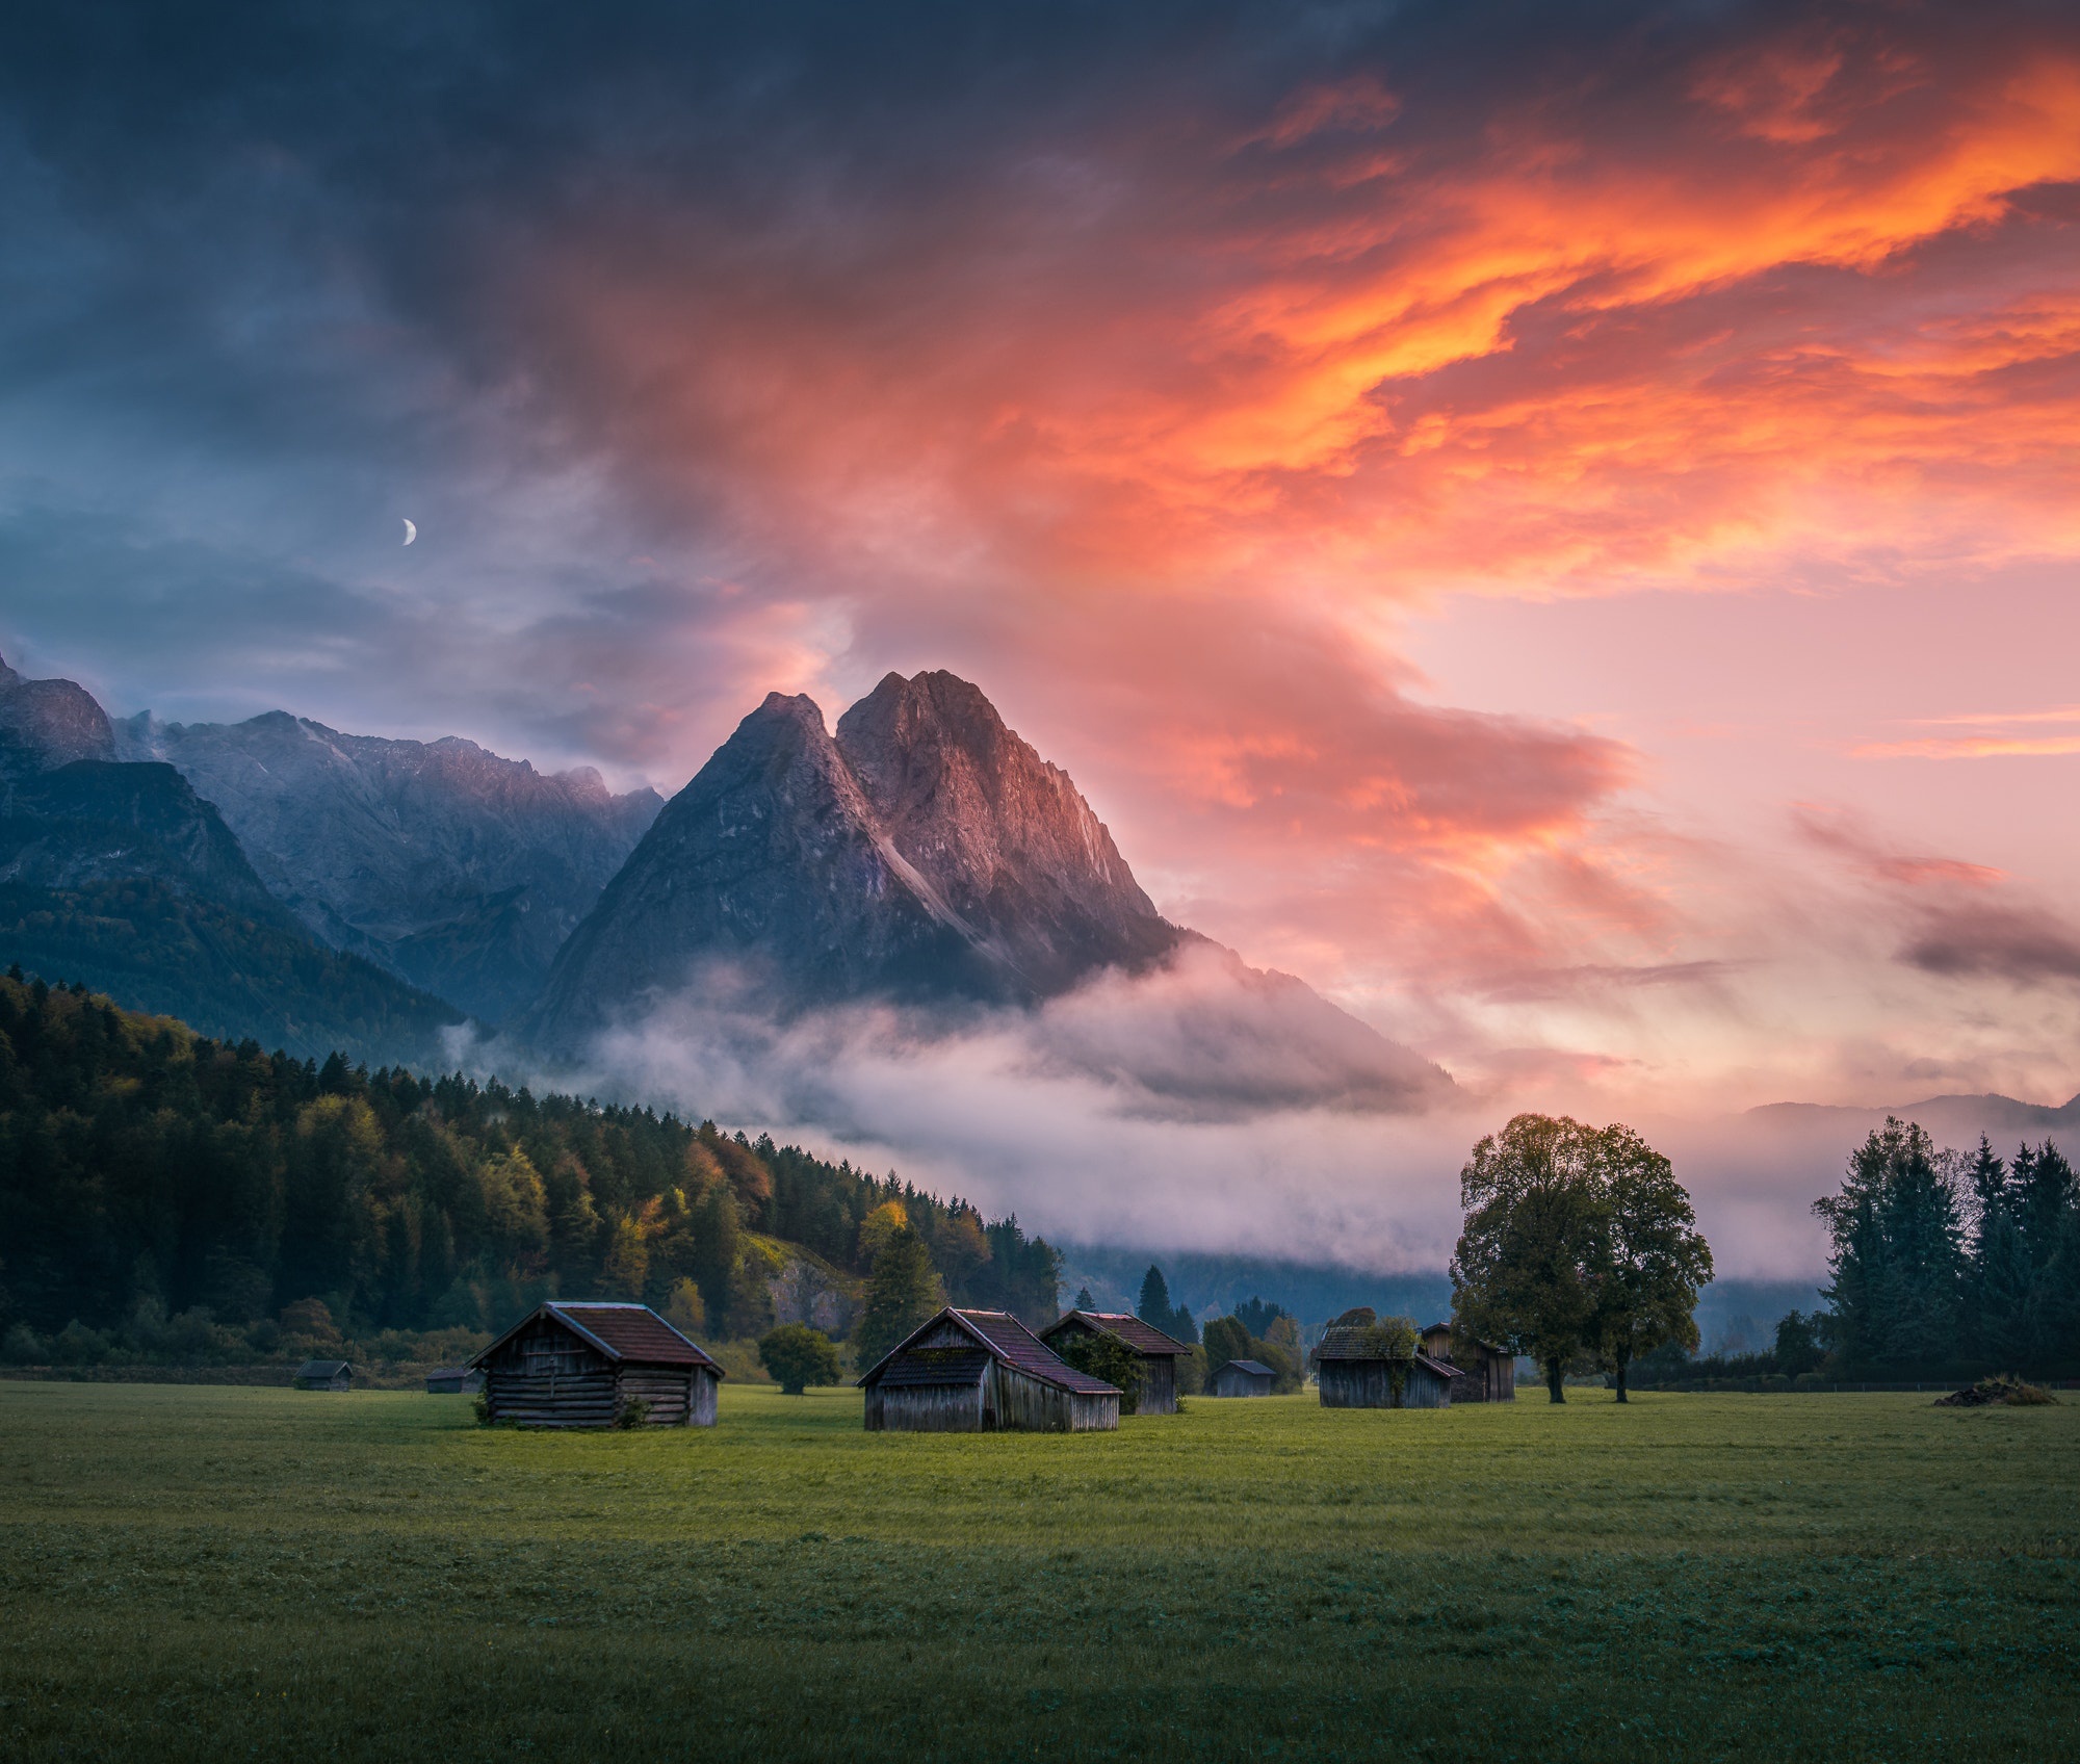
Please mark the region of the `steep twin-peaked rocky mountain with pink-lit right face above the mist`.
<svg viewBox="0 0 2080 1764"><path fill-rule="evenodd" d="M697 969L751 1001L1032 1003L1179 938L1067 774L965 680L890 674L824 728L774 693L664 809L526 1030L574 1046Z"/></svg>

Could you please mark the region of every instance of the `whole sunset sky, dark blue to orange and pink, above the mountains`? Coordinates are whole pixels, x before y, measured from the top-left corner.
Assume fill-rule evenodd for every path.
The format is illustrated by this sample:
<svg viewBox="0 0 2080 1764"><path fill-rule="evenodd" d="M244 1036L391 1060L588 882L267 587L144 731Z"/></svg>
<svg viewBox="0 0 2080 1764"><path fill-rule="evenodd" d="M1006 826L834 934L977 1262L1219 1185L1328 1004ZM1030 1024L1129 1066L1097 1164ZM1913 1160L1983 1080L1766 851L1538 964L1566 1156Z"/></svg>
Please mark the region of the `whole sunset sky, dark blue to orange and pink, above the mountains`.
<svg viewBox="0 0 2080 1764"><path fill-rule="evenodd" d="M2072 6L15 8L0 191L25 672L951 668L1498 1117L2080 1090Z"/></svg>

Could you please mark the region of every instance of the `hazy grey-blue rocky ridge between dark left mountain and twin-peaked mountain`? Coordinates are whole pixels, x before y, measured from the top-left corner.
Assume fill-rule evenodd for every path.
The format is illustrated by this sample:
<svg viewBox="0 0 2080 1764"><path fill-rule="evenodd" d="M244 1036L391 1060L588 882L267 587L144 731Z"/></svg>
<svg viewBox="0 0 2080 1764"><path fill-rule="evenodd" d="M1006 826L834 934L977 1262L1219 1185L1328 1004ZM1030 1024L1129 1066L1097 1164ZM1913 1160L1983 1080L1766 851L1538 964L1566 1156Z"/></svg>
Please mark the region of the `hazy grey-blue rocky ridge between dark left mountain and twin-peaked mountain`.
<svg viewBox="0 0 2080 1764"><path fill-rule="evenodd" d="M499 1021L645 828L655 790L591 768L543 774L472 741L341 734L268 711L241 724L114 728L212 801L262 882L324 942Z"/></svg>

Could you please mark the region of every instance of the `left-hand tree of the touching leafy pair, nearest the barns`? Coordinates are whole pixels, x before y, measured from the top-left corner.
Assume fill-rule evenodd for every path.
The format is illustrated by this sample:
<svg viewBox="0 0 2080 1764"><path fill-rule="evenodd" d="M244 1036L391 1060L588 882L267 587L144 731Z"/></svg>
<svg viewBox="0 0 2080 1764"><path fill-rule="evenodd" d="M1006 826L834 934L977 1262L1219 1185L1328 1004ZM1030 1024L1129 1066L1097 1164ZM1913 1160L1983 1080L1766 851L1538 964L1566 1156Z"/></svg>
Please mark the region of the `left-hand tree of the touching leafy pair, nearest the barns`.
<svg viewBox="0 0 2080 1764"><path fill-rule="evenodd" d="M1466 1333L1535 1358L1554 1402L1566 1402L1566 1365L1597 1323L1591 1138L1564 1115L1516 1115L1458 1175L1466 1223L1452 1256L1452 1311Z"/></svg>

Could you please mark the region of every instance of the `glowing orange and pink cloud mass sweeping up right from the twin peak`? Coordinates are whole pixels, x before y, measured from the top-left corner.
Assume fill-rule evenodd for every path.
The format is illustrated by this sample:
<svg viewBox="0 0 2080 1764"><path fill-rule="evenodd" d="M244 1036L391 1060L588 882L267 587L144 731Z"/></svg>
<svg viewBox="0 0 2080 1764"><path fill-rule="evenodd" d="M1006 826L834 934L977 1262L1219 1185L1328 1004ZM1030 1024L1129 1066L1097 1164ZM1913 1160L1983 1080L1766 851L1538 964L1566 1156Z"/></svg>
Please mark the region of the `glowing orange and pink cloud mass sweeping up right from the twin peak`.
<svg viewBox="0 0 2080 1764"><path fill-rule="evenodd" d="M838 672L973 672L1252 951L1689 971L1687 884L1612 820L1639 755L1425 705L1404 607L2080 551L2047 15L1082 123L928 193L595 202L505 297L647 514L826 607Z"/></svg>

